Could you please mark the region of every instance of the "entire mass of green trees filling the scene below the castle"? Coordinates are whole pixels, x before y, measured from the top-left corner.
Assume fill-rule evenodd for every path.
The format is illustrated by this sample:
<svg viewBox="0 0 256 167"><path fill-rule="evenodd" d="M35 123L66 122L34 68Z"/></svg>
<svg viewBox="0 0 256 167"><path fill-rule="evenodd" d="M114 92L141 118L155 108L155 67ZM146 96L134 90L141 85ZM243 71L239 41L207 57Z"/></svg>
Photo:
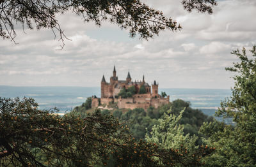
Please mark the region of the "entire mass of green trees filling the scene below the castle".
<svg viewBox="0 0 256 167"><path fill-rule="evenodd" d="M92 110L92 99L60 116L31 98L0 98L1 166L256 166L256 46L228 71L232 96L217 117L177 99L160 108ZM115 104L113 104L115 106Z"/></svg>

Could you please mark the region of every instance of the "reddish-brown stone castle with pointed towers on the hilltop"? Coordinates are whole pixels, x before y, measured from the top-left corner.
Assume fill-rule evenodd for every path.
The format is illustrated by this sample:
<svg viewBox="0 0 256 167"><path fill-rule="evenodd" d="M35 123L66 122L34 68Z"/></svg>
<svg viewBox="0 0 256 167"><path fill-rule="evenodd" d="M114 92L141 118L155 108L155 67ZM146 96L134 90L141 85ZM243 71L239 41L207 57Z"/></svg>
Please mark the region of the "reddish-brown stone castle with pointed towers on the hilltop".
<svg viewBox="0 0 256 167"><path fill-rule="evenodd" d="M135 92L132 96L122 98L118 94L122 89L128 89L129 87L134 87ZM143 93L140 89L143 87ZM152 90L152 92L151 92ZM101 97L92 97L92 107L98 107L99 105L109 105L111 103L117 103L118 108L143 108L147 110L149 106L157 108L161 105L170 103L170 96L164 98L158 94L158 83L156 80L150 85L145 82L143 75L142 81L132 82L130 73L128 72L126 80L118 80L116 76L116 68L114 66L113 76L110 77L110 82L106 82L104 75L101 80Z"/></svg>

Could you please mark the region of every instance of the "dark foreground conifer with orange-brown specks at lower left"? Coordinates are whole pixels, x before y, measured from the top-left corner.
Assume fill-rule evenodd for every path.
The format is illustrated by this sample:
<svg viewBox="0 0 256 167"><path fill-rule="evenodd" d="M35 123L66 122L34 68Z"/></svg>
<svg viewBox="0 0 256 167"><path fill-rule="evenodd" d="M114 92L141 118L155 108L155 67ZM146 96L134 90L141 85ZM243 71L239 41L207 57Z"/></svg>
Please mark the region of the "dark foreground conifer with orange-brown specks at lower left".
<svg viewBox="0 0 256 167"><path fill-rule="evenodd" d="M96 110L82 118L56 109L38 110L31 98L0 98L1 166L95 166L109 158L119 166L195 164L195 157L136 140L129 127ZM200 154L209 149L202 148ZM158 164L155 159L163 164Z"/></svg>

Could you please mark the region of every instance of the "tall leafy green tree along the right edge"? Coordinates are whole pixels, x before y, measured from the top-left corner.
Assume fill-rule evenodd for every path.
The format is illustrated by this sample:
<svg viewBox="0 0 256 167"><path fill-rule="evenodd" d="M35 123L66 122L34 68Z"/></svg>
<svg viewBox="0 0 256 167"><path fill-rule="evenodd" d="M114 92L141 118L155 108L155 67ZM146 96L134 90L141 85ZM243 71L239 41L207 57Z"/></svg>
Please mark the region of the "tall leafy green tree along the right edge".
<svg viewBox="0 0 256 167"><path fill-rule="evenodd" d="M227 71L236 73L232 96L221 102L216 115L231 118L235 127L212 122L200 129L205 142L214 143L218 151L205 159L207 166L255 166L256 164L256 46L246 55L238 49L231 54L239 58ZM211 129L214 129L212 131Z"/></svg>

